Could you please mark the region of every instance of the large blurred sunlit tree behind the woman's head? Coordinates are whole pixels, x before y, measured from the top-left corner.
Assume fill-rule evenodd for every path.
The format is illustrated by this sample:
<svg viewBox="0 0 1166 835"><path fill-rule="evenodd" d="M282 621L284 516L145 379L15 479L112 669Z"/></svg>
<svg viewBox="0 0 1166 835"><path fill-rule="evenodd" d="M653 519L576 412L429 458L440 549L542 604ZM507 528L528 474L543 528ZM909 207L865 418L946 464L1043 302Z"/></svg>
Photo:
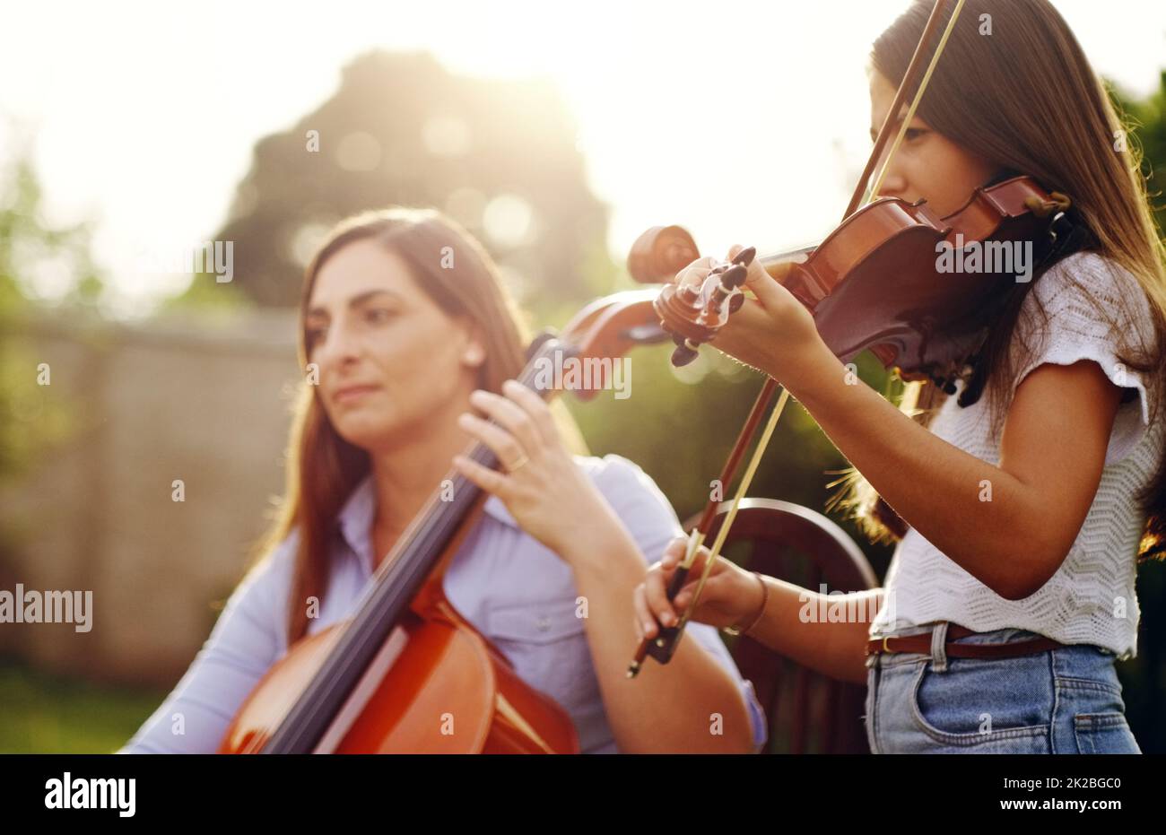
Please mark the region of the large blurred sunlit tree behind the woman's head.
<svg viewBox="0 0 1166 835"><path fill-rule="evenodd" d="M330 99L257 143L215 238L234 241L239 290L294 306L332 223L389 204L436 206L486 245L520 301L582 301L606 289L581 266L602 250L607 218L576 141L549 82L459 77L428 54L372 51L344 69ZM212 295L213 281L197 275L188 299Z"/></svg>

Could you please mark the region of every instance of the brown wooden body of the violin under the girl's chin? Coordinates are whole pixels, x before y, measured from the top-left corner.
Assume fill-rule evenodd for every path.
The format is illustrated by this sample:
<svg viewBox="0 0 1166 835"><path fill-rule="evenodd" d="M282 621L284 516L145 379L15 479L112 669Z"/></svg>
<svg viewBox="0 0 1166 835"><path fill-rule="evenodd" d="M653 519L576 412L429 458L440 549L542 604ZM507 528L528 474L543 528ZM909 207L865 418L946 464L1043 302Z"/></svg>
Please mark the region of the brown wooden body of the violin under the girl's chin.
<svg viewBox="0 0 1166 835"><path fill-rule="evenodd" d="M813 311L822 339L843 362L869 348L885 367L958 372L1016 279L995 271L940 272L940 247L999 251L1035 241L1039 252L1048 220L1025 206L1031 198L1049 196L1031 178L1013 177L976 189L946 218L923 202L876 201L793 265L782 283Z"/></svg>

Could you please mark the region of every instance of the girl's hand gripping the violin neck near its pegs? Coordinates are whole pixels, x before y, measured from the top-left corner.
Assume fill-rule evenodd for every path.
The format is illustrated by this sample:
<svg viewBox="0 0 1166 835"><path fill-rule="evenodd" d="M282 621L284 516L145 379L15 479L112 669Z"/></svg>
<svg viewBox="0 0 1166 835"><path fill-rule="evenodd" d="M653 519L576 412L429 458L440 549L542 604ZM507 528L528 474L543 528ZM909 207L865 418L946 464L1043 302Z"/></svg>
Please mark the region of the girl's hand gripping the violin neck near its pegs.
<svg viewBox="0 0 1166 835"><path fill-rule="evenodd" d="M732 260L744 247L730 247L726 260ZM718 261L701 258L676 274L676 283L701 287ZM744 288L746 295L740 309L717 332L712 345L740 362L759 369L779 383L787 383L829 349L814 327L814 317L805 304L765 272L757 259L749 265ZM833 356L833 355L831 355Z"/></svg>

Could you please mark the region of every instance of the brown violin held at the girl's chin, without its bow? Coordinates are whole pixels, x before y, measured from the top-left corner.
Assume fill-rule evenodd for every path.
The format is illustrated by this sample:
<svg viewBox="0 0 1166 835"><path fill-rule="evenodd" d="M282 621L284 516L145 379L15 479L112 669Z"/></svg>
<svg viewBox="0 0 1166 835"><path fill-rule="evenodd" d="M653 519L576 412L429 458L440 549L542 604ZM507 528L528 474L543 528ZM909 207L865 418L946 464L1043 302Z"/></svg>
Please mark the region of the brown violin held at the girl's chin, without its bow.
<svg viewBox="0 0 1166 835"><path fill-rule="evenodd" d="M1014 176L975 190L939 218L926 201L884 197L848 217L817 246L760 259L765 271L808 308L827 346L843 363L870 350L887 369L947 385L983 343L1016 273L940 272L937 253L991 245L1012 252L1034 243L1044 260L1058 239L1067 198L1032 177ZM1056 212L1049 220L1049 215ZM656 313L673 335L673 363L687 365L711 342L744 296L740 285L756 251L714 268L700 288L669 285ZM632 245L628 272L659 282L698 258L680 226L655 226ZM1010 262L1016 264L1010 257Z"/></svg>

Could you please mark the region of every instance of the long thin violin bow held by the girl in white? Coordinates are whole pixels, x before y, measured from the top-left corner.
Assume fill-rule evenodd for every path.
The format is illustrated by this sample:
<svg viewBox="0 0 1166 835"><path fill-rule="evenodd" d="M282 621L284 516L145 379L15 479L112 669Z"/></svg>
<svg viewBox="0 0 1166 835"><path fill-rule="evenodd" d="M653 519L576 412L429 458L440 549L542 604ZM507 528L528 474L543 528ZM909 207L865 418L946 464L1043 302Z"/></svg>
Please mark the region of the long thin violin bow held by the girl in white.
<svg viewBox="0 0 1166 835"><path fill-rule="evenodd" d="M855 187L855 191L850 197L850 203L847 205L847 211L843 213L842 219L845 220L848 217L855 213L859 205L864 203L864 196L866 196L865 202L871 202L878 194L878 189L883 184L883 180L886 176L887 168L891 163L891 159L894 156L899 146L902 143L902 138L907 133L907 126L914 118L915 110L919 107L919 103L922 100L923 91L927 90L927 84L932 78L932 73L939 63L940 55L943 52L943 48L947 45L948 37L951 30L955 28L956 20L960 17L960 12L963 9L964 0L954 0L955 8L951 12L951 16L940 36L939 43L935 45L935 50L932 54L930 61L927 63L926 70L923 69L923 54L926 51L927 44L932 41L935 35L936 29L939 29L940 21L943 17L944 12L947 12L953 6L953 0L936 0L935 7L932 9L930 15L927 19L927 24L923 27L923 33L919 37L919 43L915 44L915 51L911 57L911 63L907 65L907 70L902 76L902 80L899 83L899 87L895 90L894 99L891 101L891 107L887 111L886 118L883 120L883 126L879 129L878 136L874 140L874 147L871 149L870 156L866 160L866 166L863 168L862 176L858 178L858 183ZM920 73L922 77L920 78ZM912 98L911 105L907 108L907 113L899 125L898 133L894 138L894 143L891 146L891 150L886 156L885 162L879 169L879 174L874 180L873 187L868 192L868 183L870 181L871 174L874 170L874 166L878 163L879 157L883 154L883 149L890 141L892 129L897 121L899 108L902 107L902 103L907 98L907 91L914 85L915 80L919 80L919 87ZM756 250L749 247L742 250L728 265L722 265L721 267L712 271L710 274L716 274L719 272L721 275L721 287L718 289L718 299L725 299L738 290L740 285L745 280L746 268L750 262L752 262L756 255ZM677 348L679 351L695 351L696 344L686 339L682 345ZM740 459L744 457L745 449L753 440L753 435L757 431L757 427L761 422L761 415L768 407L770 401L773 400L773 393L777 391L778 384L772 378L768 377L765 384L761 386L761 391L757 395L757 400L753 402L750 409L749 418L745 420L745 424L742 427L740 433L737 436L737 441L733 444L732 451L729 454L729 458L725 462L724 468L721 471L719 484L730 484L736 476L737 468L740 465ZM716 562L717 556L721 554L721 548L724 546L725 539L729 536L729 529L732 527L735 519L737 518L737 510L740 506L740 500L744 498L750 484L753 480L753 475L757 472L757 468L761 462L761 456L765 454L765 449L770 443L770 438L773 436L774 429L777 429L778 420L781 418L781 413L785 411L786 402L789 400L789 392L782 386L781 395L778 398L777 406L770 413L770 419L765 424L765 429L761 433L761 437L753 450L753 455L750 458L749 466L745 469L742 476L740 483L737 485L737 491L733 493L732 504L729 507L729 513L725 517L724 522L721 525L717 536L712 542L712 547L709 549L709 557L704 562L704 569L701 573L701 577L697 581L696 589L693 594L693 599L689 602L683 615L681 615L680 622L675 626L661 626L659 634L654 640L648 640L647 638L640 640L640 645L635 651L635 655L632 662L627 666L627 678L634 679L644 665L644 659L648 655L654 658L660 664L667 664L676 651L676 646L680 643L681 637L684 633L684 627L691 619L691 615L696 609L697 603L701 599L701 592L704 590L704 583L709 578L709 574L712 569L712 563ZM681 560L680 564L676 567L676 571L672 576L672 581L668 583L668 599L674 599L675 596L683 588L688 580L688 575L691 571L693 564L696 561L696 555L700 553L701 546L704 545L704 540L708 535L709 529L712 526L714 519L716 519L717 511L719 510L721 501L709 497L708 504L704 506L704 512L701 514L701 519L689 532L688 543L684 550L684 559Z"/></svg>

